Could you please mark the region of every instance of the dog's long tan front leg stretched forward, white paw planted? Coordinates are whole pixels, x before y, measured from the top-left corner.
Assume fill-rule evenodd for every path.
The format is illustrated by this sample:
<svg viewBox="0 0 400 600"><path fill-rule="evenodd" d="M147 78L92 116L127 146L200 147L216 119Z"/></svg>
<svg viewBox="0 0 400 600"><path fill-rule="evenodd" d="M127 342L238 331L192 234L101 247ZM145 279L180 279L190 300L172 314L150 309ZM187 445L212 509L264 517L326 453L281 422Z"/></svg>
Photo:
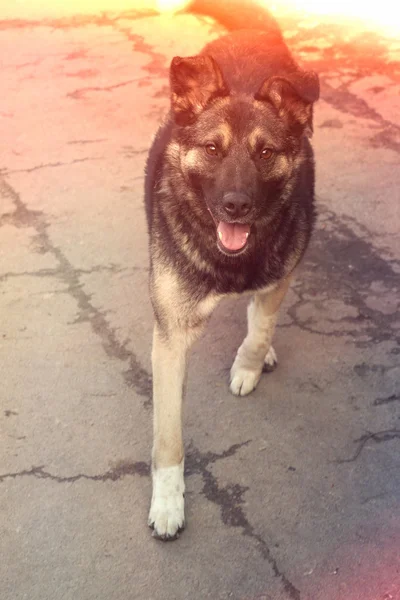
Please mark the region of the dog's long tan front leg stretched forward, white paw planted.
<svg viewBox="0 0 400 600"><path fill-rule="evenodd" d="M154 261L150 280L156 317L153 336L153 495L149 525L155 537L173 540L184 527L182 397L186 356L218 302L188 294L179 277Z"/></svg>

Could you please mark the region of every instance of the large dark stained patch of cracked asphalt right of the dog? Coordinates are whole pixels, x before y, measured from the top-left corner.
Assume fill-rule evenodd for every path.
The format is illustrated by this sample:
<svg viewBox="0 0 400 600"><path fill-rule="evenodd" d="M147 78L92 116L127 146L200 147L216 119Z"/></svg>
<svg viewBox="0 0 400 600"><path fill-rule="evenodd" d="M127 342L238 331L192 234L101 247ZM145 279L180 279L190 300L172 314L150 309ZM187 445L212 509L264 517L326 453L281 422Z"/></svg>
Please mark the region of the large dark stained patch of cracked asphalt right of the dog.
<svg viewBox="0 0 400 600"><path fill-rule="evenodd" d="M385 313L372 308L371 284L379 282L379 297L398 296L400 261L381 257L371 243L368 230L358 225L353 231L346 219L338 217L319 202L322 225L313 233L301 270L292 291L297 300L287 308L291 318L280 327L296 326L308 333L327 337L350 336L357 347L371 341L394 341L400 345L397 311ZM397 269L396 269L397 267ZM329 301L339 301L345 310L357 309L357 316L340 315L329 309ZM359 339L361 338L361 339Z"/></svg>

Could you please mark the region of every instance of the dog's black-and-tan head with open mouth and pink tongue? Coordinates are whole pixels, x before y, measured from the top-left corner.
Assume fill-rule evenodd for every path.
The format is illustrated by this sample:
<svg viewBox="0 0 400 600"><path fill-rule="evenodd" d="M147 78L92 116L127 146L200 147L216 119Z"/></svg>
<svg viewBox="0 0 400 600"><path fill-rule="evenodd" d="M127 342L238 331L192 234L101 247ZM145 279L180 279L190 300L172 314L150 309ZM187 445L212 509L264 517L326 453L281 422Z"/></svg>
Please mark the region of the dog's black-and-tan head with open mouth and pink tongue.
<svg viewBox="0 0 400 600"><path fill-rule="evenodd" d="M214 220L220 250L240 254L298 169L318 78L296 69L265 79L253 95L231 94L217 62L199 55L174 58L170 82L182 173Z"/></svg>

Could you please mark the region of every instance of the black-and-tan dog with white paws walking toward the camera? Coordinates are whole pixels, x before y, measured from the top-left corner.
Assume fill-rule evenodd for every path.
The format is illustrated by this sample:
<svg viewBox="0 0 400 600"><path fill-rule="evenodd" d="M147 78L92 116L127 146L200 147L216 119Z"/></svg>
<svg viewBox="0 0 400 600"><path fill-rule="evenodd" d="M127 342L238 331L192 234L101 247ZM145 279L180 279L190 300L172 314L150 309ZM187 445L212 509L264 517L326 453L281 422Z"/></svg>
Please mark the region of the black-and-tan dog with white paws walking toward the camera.
<svg viewBox="0 0 400 600"><path fill-rule="evenodd" d="M315 221L309 138L317 74L299 68L276 21L254 2L195 0L187 10L230 32L197 56L172 60L170 112L146 165L155 317L148 523L165 541L185 524L188 349L221 298L252 293L230 390L245 396L255 389L276 364L278 309Z"/></svg>

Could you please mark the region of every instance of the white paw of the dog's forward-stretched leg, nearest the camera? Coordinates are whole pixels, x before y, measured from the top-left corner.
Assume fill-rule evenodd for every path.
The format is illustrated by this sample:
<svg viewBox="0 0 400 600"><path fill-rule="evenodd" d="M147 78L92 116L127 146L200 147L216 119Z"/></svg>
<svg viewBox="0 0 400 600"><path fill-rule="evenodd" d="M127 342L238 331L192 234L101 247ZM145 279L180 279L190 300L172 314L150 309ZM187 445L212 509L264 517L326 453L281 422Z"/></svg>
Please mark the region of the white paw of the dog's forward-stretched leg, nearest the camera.
<svg viewBox="0 0 400 600"><path fill-rule="evenodd" d="M185 526L183 461L174 467L153 471L153 497L149 513L149 526L153 536L175 540Z"/></svg>

